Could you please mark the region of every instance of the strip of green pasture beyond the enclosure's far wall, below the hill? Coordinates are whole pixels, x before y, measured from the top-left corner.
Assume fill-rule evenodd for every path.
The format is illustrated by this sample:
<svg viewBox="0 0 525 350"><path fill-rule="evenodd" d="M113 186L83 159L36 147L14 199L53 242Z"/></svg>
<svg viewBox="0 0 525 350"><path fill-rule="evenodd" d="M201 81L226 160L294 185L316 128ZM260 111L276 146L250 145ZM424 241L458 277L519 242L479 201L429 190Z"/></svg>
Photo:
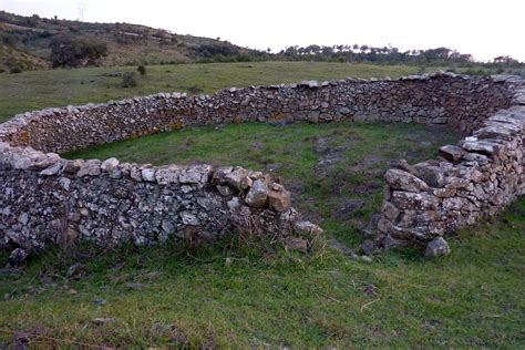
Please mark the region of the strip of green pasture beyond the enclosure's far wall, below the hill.
<svg viewBox="0 0 525 350"><path fill-rule="evenodd" d="M135 71L136 66L91 68L0 74L0 122L17 113L48 106L104 102L162 91L213 93L229 86L294 83L307 79L348 76L397 78L413 74L416 66L310 62L257 62L150 65L138 86L120 86L121 78L107 72Z"/></svg>

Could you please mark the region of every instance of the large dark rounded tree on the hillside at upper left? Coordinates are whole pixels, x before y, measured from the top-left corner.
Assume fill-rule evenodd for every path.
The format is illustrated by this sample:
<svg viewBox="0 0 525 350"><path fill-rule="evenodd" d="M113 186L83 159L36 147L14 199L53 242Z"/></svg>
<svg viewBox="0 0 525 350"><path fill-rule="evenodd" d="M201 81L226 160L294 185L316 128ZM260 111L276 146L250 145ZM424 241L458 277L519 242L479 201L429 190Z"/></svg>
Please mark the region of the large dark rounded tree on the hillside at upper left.
<svg viewBox="0 0 525 350"><path fill-rule="evenodd" d="M105 43L71 35L54 37L50 47L53 68L94 65L102 56L107 55Z"/></svg>

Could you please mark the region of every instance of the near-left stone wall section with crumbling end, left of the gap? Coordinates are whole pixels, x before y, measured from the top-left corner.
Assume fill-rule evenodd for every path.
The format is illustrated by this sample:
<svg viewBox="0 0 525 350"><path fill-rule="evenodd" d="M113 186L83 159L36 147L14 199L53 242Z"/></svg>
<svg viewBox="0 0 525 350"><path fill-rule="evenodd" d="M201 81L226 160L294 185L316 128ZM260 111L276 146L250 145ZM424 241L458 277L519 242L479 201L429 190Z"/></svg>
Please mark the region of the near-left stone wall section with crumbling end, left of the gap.
<svg viewBox="0 0 525 350"><path fill-rule="evenodd" d="M300 220L281 185L241 167L70 161L0 142L0 237L11 248L78 238L104 246L213 241L246 224L271 235L320 233Z"/></svg>

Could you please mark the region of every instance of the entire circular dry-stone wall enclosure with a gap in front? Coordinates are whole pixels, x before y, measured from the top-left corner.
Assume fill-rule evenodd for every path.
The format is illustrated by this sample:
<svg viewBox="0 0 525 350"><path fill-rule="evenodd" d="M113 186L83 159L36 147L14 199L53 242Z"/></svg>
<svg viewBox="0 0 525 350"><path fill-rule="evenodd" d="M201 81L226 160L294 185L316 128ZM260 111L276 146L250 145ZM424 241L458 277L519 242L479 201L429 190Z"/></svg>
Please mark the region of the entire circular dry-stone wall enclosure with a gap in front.
<svg viewBox="0 0 525 350"><path fill-rule="evenodd" d="M28 112L0 125L0 246L23 256L50 244L210 241L239 230L319 234L269 175L236 166L152 166L56 153L186 126L243 122L383 121L450 124L470 134L439 157L385 173L372 250L423 245L525 194L525 81L435 73L399 80L306 81L159 93Z"/></svg>

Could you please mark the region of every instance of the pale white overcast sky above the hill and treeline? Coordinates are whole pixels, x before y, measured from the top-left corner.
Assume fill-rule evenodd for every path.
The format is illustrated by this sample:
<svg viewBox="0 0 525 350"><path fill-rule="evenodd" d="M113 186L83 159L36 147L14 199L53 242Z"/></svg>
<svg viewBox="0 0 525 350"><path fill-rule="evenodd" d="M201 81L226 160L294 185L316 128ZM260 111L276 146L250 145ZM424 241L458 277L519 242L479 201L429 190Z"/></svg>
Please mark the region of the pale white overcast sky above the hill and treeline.
<svg viewBox="0 0 525 350"><path fill-rule="evenodd" d="M525 0L0 0L24 16L127 22L274 52L288 45L447 47L525 61Z"/></svg>

